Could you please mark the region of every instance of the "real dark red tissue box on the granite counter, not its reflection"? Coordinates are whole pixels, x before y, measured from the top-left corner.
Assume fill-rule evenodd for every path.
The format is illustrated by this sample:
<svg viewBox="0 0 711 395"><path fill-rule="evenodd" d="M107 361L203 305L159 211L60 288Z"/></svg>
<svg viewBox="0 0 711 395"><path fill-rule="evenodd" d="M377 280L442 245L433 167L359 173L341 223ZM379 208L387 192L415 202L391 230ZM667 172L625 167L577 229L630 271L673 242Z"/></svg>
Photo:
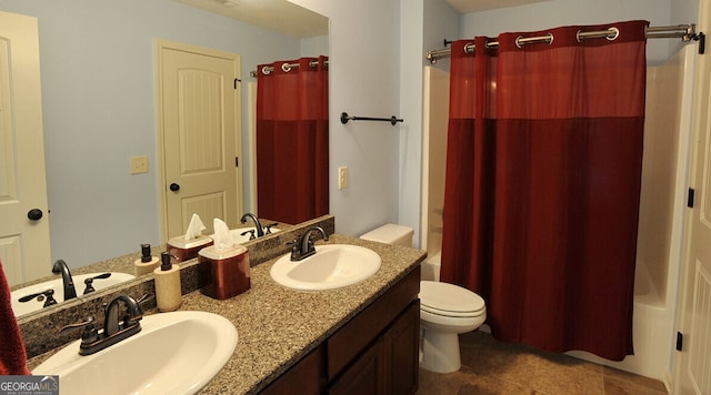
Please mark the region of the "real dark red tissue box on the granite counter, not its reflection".
<svg viewBox="0 0 711 395"><path fill-rule="evenodd" d="M212 298L226 300L249 290L249 251L236 244L218 251L214 245L198 253L200 291Z"/></svg>

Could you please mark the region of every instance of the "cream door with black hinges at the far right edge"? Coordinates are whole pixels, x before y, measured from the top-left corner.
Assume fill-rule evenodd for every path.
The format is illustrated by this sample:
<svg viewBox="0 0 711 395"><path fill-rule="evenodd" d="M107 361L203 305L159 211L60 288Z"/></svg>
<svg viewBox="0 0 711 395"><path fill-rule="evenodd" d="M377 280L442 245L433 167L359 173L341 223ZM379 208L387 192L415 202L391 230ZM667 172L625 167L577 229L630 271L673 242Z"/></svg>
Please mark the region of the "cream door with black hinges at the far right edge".
<svg viewBox="0 0 711 395"><path fill-rule="evenodd" d="M711 28L711 0L700 1L700 29ZM705 30L704 30L705 29ZM708 51L708 49L707 49ZM694 146L679 331L682 352L674 361L674 394L711 394L711 58L699 55L694 99Z"/></svg>

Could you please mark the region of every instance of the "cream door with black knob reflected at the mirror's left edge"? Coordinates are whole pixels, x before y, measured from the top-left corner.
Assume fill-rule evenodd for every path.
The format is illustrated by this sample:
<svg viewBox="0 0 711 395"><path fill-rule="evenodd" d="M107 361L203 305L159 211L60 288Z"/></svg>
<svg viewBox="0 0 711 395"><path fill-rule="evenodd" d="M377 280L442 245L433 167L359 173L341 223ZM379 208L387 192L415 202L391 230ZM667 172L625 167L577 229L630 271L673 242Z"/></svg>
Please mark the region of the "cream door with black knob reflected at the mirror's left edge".
<svg viewBox="0 0 711 395"><path fill-rule="evenodd" d="M0 260L10 285L51 274L48 213L37 19L0 11Z"/></svg>

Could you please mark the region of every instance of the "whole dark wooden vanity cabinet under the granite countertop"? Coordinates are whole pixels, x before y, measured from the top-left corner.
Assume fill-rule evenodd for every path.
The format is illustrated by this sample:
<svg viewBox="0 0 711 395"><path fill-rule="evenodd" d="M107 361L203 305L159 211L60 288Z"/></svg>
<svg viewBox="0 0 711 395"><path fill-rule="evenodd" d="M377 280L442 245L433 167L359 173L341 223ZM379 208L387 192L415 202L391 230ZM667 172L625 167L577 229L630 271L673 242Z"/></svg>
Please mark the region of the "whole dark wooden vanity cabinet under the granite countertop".
<svg viewBox="0 0 711 395"><path fill-rule="evenodd" d="M419 293L418 266L262 393L414 394Z"/></svg>

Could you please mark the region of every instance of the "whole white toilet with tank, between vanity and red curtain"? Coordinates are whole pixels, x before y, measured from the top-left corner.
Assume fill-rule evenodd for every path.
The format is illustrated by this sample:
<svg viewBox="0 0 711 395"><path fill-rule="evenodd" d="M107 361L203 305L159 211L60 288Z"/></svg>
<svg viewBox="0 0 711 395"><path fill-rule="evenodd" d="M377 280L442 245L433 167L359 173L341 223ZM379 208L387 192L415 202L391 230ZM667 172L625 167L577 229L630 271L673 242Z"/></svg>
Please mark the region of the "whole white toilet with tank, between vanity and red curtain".
<svg viewBox="0 0 711 395"><path fill-rule="evenodd" d="M381 243L412 246L411 227L385 224L361 236ZM475 293L439 282L441 255L422 263L420 282L420 367L435 373L459 371L459 334L477 330L487 320L484 300Z"/></svg>

